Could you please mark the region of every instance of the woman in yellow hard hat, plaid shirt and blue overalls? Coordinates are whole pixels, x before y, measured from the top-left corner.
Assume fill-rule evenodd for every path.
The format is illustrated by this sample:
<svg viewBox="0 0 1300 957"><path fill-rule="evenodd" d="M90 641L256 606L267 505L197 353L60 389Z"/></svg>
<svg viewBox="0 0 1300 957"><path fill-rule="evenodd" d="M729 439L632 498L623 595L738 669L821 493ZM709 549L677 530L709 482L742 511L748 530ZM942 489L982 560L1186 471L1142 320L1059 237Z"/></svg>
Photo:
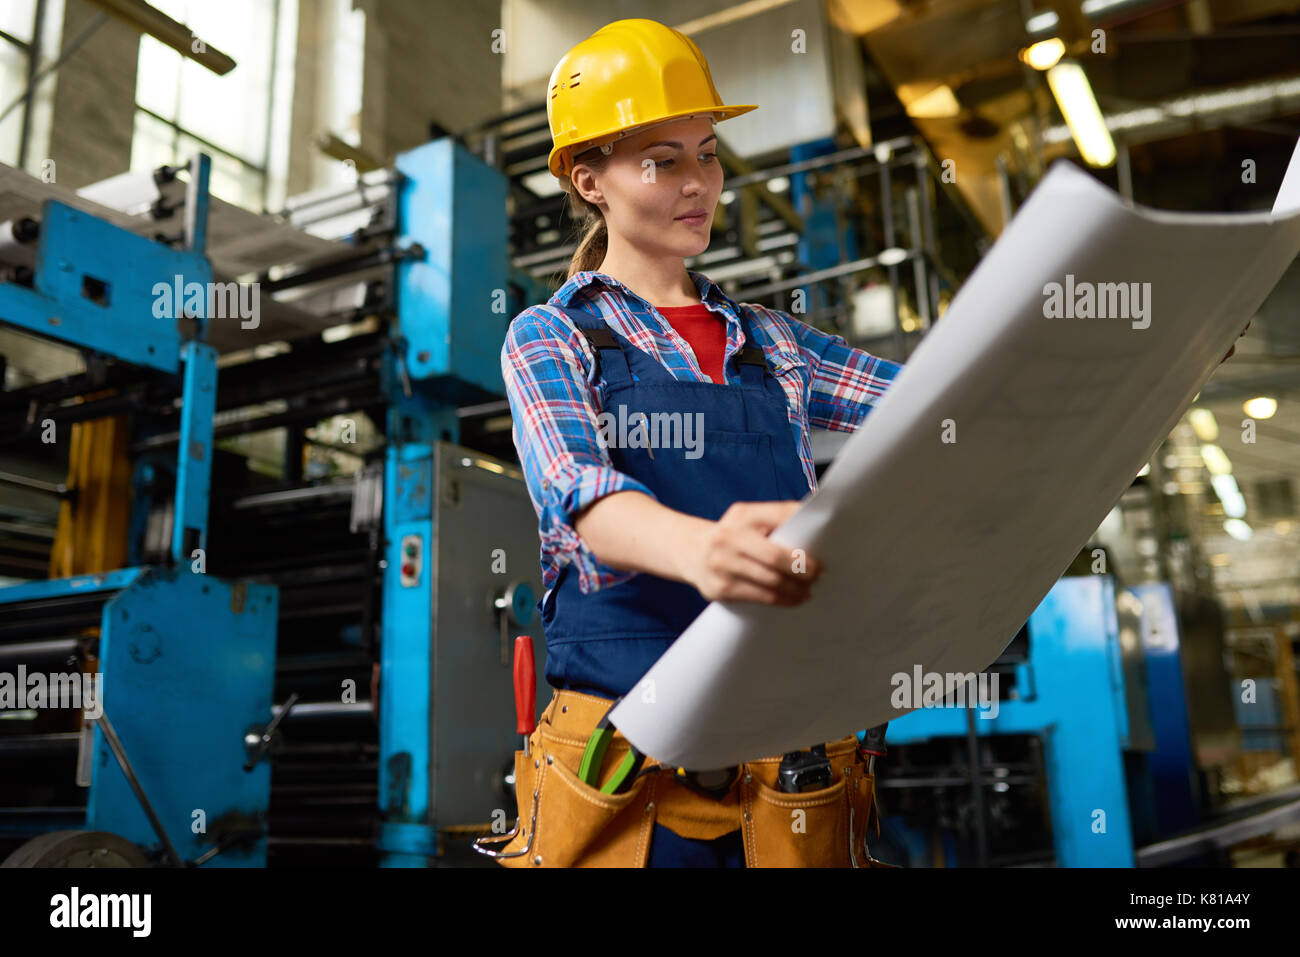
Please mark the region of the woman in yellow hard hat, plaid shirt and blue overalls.
<svg viewBox="0 0 1300 957"><path fill-rule="evenodd" d="M610 23L551 75L550 169L589 225L568 281L515 317L502 350L556 689L516 753L504 865L868 859L853 736L826 745L829 778L798 793L781 789L780 758L711 774L650 759L603 793L628 754L616 733L582 775L611 701L653 694L637 683L707 602L807 599L815 559L767 534L815 486L809 430L855 429L901 368L685 268L723 187L714 122L751 109L723 105L698 47L649 20Z"/></svg>

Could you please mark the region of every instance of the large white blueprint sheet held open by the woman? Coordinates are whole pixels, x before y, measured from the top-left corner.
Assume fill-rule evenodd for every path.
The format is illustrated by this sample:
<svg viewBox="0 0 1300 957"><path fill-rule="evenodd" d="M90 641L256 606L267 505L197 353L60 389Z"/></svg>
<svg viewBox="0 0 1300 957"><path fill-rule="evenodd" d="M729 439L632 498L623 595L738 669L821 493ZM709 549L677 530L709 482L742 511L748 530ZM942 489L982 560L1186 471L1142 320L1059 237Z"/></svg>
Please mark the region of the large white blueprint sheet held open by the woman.
<svg viewBox="0 0 1300 957"><path fill-rule="evenodd" d="M1054 165L772 533L822 560L812 597L714 602L614 724L663 762L724 767L900 718L896 672L987 668L1297 252L1300 150L1271 215L1126 205ZM1150 283L1149 312L1045 316L1067 282L1080 308L1083 283Z"/></svg>

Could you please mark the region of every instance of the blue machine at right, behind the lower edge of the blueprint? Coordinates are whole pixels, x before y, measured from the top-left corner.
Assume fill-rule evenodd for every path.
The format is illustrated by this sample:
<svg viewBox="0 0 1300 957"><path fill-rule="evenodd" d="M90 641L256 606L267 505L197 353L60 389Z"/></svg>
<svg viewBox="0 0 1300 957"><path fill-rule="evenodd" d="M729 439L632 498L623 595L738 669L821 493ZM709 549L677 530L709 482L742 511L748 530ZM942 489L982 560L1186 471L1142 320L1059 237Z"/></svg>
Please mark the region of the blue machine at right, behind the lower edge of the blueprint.
<svg viewBox="0 0 1300 957"><path fill-rule="evenodd" d="M1201 819L1179 631L1167 583L1117 589L1108 575L1062 577L1026 623L1027 645L1018 637L991 668L1008 687L996 715L992 707L988 718L963 707L924 707L890 722L889 745L900 746L890 774L909 745L966 739L970 754L979 755L972 763L980 766L982 789L967 811L996 822L996 802L1006 792L1017 784L1037 791L1041 779L1044 830L1060 866L1136 866L1141 848ZM1009 770L1014 761L1000 761L994 745L1020 739L1039 742L1031 750L1041 757L1027 762L1030 774L1017 781ZM894 785L909 784L924 787L924 779L913 779L906 767L881 781L883 826L896 849L913 863L932 861L937 833L937 857L972 862L953 827L935 831L933 819L890 813L904 793ZM965 793L968 772L945 785ZM1023 824L1031 810L1019 807L1014 817L1020 830L1032 830ZM991 820L967 815L961 823L968 831Z"/></svg>

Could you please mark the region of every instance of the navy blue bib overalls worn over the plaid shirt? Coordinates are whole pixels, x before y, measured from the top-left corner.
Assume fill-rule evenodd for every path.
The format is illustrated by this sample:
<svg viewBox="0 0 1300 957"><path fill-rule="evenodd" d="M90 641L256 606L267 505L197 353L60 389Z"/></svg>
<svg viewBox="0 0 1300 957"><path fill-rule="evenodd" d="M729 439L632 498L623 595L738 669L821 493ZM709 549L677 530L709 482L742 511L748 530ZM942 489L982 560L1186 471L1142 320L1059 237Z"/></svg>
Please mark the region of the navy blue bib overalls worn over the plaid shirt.
<svg viewBox="0 0 1300 957"><path fill-rule="evenodd" d="M789 501L809 493L785 390L768 371L762 350L751 345L755 339L744 312L748 345L733 356L740 384L725 385L676 380L603 319L563 311L593 346L597 376L603 373L607 384L601 411L611 421L636 423L646 416L642 439L655 438L649 423L668 421L655 417L664 413L680 413L682 426L686 416L692 425L702 425L689 447L680 441L679 447L610 442L614 467L644 482L660 503L716 520L733 502ZM618 437L616 430L611 433ZM607 698L627 694L707 605L693 585L649 572L582 594L573 566L567 564L540 602L546 680L555 688ZM649 866L672 865L744 866L740 831L701 841L656 824Z"/></svg>

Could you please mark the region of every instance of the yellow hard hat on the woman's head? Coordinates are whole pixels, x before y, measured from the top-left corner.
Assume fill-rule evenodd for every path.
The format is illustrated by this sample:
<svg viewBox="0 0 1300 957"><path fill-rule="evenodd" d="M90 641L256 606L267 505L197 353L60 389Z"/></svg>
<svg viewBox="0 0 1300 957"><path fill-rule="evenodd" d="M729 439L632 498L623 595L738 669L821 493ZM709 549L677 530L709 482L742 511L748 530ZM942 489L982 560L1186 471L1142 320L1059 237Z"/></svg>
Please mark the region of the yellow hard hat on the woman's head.
<svg viewBox="0 0 1300 957"><path fill-rule="evenodd" d="M694 40L655 20L616 20L566 53L547 85L552 176L573 169L576 147L604 146L668 120L715 120L758 109L727 107Z"/></svg>

